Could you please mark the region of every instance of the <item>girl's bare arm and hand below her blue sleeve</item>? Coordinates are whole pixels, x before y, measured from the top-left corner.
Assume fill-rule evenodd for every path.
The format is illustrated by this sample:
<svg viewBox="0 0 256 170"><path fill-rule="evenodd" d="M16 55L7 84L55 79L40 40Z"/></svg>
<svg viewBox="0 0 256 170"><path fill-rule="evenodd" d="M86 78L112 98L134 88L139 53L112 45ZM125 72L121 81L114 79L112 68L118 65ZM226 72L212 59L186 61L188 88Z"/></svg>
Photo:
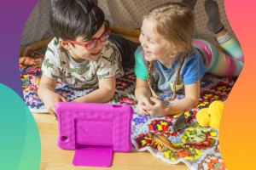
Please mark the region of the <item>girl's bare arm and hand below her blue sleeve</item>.
<svg viewBox="0 0 256 170"><path fill-rule="evenodd" d="M177 115L183 111L189 111L198 104L200 99L200 80L195 83L185 85L185 97L181 100L172 101L172 105L165 106L159 99L151 98L155 105L151 111L151 116Z"/></svg>

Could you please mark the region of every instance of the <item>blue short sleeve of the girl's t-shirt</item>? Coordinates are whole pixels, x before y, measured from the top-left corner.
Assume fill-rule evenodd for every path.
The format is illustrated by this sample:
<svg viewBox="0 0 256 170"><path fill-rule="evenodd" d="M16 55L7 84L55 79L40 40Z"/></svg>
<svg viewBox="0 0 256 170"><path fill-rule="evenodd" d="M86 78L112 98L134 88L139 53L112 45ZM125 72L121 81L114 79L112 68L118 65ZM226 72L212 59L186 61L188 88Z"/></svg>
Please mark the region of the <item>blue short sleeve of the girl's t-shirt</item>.
<svg viewBox="0 0 256 170"><path fill-rule="evenodd" d="M197 82L204 76L207 68L204 65L201 55L194 53L191 54L189 59L184 63L183 67L183 82L185 85Z"/></svg>

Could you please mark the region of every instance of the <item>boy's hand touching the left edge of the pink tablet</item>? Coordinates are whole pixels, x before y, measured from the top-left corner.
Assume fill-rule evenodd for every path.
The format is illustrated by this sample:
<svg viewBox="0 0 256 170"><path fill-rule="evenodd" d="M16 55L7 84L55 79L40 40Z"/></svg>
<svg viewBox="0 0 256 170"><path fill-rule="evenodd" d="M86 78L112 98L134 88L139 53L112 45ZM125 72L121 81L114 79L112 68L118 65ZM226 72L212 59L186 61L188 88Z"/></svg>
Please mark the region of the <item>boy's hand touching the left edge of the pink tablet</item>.
<svg viewBox="0 0 256 170"><path fill-rule="evenodd" d="M67 100L63 98L60 94L53 93L46 101L44 101L44 105L50 114L55 114L55 105L57 105L58 102L66 101Z"/></svg>

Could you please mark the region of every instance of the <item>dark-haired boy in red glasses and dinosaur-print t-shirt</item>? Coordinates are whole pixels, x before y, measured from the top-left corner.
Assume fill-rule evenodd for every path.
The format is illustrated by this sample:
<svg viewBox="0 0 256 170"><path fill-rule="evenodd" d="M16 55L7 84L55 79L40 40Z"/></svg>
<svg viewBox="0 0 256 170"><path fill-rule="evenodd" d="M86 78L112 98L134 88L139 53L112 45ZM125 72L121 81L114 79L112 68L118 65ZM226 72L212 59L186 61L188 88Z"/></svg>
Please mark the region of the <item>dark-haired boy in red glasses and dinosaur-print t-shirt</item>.
<svg viewBox="0 0 256 170"><path fill-rule="evenodd" d="M55 38L49 42L38 87L49 113L66 101L55 93L57 78L74 88L97 88L73 101L104 103L113 99L115 77L124 74L122 66L134 65L137 44L110 35L104 18L90 0L55 0L49 15Z"/></svg>

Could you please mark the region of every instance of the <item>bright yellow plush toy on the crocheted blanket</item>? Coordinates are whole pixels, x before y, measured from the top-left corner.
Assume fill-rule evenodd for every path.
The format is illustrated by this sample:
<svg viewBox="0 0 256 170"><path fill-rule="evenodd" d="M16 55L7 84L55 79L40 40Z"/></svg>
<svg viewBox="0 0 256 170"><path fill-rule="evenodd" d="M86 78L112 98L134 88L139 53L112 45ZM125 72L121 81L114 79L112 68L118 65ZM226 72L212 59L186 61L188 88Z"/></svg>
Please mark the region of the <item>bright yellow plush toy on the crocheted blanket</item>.
<svg viewBox="0 0 256 170"><path fill-rule="evenodd" d="M223 109L223 101L213 101L208 108L203 108L197 112L196 120L201 127L218 128Z"/></svg>

